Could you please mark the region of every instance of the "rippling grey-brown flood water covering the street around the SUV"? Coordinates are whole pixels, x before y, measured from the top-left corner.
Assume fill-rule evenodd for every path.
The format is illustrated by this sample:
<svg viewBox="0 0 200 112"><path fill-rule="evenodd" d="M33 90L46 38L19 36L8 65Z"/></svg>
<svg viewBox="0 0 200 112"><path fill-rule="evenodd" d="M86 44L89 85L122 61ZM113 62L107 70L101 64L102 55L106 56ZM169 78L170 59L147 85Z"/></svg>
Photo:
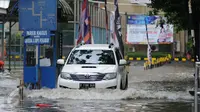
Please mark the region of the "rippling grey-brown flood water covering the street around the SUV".
<svg viewBox="0 0 200 112"><path fill-rule="evenodd" d="M193 64L179 62L144 71L141 62L130 66L129 88L121 90L25 90L19 103L22 71L0 75L0 112L191 112ZM37 104L51 105L38 108Z"/></svg>

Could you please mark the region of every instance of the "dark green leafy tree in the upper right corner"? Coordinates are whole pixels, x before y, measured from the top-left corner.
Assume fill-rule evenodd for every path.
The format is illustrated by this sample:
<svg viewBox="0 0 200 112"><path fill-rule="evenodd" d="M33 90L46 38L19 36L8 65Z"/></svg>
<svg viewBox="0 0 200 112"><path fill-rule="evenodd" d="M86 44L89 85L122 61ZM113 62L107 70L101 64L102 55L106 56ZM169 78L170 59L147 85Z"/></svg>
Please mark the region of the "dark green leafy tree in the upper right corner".
<svg viewBox="0 0 200 112"><path fill-rule="evenodd" d="M200 57L199 30L200 30L200 0L191 0L192 15L189 15L188 0L151 0L155 11L163 11L168 23L174 24L177 30L194 29L195 52ZM191 18L190 18L191 17ZM191 22L192 21L192 22Z"/></svg>

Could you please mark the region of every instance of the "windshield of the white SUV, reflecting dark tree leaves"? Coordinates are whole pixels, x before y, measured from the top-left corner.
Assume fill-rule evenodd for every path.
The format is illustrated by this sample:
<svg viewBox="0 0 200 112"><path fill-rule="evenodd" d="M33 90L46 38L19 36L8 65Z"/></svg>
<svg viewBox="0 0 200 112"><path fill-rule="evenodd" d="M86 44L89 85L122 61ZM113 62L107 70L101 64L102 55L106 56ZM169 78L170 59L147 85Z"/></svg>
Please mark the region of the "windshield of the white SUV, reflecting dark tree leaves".
<svg viewBox="0 0 200 112"><path fill-rule="evenodd" d="M112 50L74 50L67 64L115 64Z"/></svg>

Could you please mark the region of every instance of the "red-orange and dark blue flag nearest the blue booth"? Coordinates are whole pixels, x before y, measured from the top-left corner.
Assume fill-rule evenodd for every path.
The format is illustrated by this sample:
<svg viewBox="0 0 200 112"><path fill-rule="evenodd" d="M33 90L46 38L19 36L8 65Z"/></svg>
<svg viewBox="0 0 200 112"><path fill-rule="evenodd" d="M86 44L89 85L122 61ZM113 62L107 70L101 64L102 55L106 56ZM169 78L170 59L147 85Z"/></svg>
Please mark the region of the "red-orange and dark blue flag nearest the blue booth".
<svg viewBox="0 0 200 112"><path fill-rule="evenodd" d="M85 44L92 43L91 18L89 14L88 0L83 0L82 3L77 44L80 44L82 41L84 41Z"/></svg>

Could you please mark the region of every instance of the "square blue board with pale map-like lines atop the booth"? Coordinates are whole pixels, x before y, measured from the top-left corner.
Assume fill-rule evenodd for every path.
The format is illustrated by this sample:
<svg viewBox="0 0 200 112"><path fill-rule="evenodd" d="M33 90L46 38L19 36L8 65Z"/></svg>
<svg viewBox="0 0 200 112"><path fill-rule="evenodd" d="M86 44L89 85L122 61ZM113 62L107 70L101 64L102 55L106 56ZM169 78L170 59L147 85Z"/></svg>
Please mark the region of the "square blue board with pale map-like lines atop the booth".
<svg viewBox="0 0 200 112"><path fill-rule="evenodd" d="M19 0L20 30L57 30L57 0Z"/></svg>

